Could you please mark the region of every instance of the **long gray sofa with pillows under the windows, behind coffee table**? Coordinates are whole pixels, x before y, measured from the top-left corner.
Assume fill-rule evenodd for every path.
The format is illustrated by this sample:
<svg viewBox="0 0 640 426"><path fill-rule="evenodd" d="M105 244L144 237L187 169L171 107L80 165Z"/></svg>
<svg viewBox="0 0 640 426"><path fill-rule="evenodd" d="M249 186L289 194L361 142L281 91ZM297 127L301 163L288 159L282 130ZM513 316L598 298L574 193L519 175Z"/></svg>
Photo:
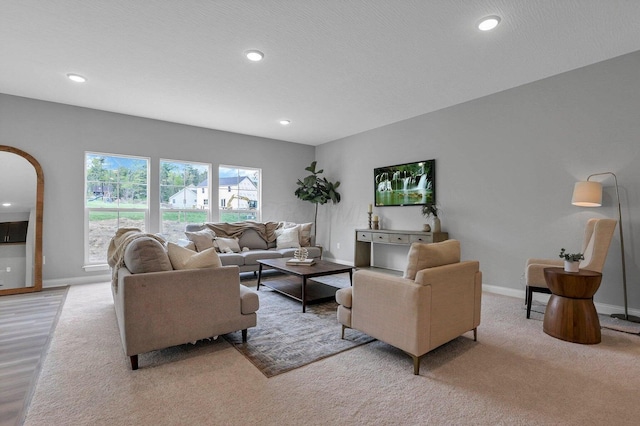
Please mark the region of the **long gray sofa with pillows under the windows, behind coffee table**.
<svg viewBox="0 0 640 426"><path fill-rule="evenodd" d="M263 230L264 228L264 230ZM297 228L297 243L287 244L282 242L285 233L293 231ZM272 229L272 231L271 231ZM183 245L191 244L192 249L202 251L211 246L216 246L217 240L229 239L237 240L231 243L231 252L219 253L220 261L223 265L235 265L240 272L255 272L259 269L259 259L279 259L292 258L294 252L299 247L307 249L308 257L320 259L322 257L322 248L312 245L313 241L310 234L311 224L294 224L290 222L236 222L233 224L225 223L205 223L205 224L189 224L186 226L185 234L190 241L182 241ZM212 231L213 240L203 237L205 245L198 246L197 235L202 231ZM273 235L271 234L273 232ZM295 240L295 237L294 237ZM209 243L209 244L207 244ZM287 246L290 247L282 247ZM226 247L225 247L226 248Z"/></svg>

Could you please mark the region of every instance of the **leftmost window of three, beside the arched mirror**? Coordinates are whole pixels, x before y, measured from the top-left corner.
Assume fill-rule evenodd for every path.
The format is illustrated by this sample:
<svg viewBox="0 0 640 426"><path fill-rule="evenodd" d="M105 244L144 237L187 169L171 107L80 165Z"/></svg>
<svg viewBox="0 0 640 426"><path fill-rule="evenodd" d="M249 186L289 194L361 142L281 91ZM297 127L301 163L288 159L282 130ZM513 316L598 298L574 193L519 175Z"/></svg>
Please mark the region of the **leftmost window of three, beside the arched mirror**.
<svg viewBox="0 0 640 426"><path fill-rule="evenodd" d="M148 170L147 158L85 153L85 265L107 263L118 228L147 228Z"/></svg>

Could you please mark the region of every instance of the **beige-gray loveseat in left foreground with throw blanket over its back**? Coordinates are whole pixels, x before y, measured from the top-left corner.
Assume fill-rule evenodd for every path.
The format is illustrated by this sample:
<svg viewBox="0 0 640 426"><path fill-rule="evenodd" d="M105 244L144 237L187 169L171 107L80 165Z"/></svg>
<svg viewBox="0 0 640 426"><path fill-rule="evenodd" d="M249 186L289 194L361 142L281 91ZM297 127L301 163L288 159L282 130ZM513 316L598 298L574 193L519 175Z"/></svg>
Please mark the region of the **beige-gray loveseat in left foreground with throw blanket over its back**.
<svg viewBox="0 0 640 426"><path fill-rule="evenodd" d="M247 340L247 329L256 325L259 301L256 293L240 285L237 266L220 267L215 253L215 258L176 262L150 236L138 235L122 252L120 259L109 256L115 267L112 293L122 346L133 370L138 368L138 355L145 352L239 330ZM176 270L172 263L196 269Z"/></svg>

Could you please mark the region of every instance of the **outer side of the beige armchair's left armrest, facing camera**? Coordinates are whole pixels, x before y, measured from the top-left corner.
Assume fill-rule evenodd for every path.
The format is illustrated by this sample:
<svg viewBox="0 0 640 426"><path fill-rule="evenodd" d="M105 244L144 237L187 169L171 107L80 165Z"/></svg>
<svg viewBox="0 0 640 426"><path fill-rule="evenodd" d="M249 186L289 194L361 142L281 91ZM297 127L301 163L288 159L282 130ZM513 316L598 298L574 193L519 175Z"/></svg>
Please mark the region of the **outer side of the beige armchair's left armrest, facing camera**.
<svg viewBox="0 0 640 426"><path fill-rule="evenodd" d="M359 270L353 275L352 327L413 355L428 351L431 288Z"/></svg>

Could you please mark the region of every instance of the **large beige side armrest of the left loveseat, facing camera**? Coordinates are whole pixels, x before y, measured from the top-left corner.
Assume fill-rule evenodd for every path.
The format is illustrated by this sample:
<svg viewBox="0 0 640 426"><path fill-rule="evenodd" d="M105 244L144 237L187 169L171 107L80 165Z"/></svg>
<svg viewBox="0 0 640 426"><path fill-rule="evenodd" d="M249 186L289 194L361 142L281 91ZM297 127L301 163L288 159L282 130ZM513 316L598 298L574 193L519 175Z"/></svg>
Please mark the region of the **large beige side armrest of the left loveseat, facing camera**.
<svg viewBox="0 0 640 426"><path fill-rule="evenodd" d="M212 337L215 324L242 315L237 266L131 274L114 291L127 355Z"/></svg>

